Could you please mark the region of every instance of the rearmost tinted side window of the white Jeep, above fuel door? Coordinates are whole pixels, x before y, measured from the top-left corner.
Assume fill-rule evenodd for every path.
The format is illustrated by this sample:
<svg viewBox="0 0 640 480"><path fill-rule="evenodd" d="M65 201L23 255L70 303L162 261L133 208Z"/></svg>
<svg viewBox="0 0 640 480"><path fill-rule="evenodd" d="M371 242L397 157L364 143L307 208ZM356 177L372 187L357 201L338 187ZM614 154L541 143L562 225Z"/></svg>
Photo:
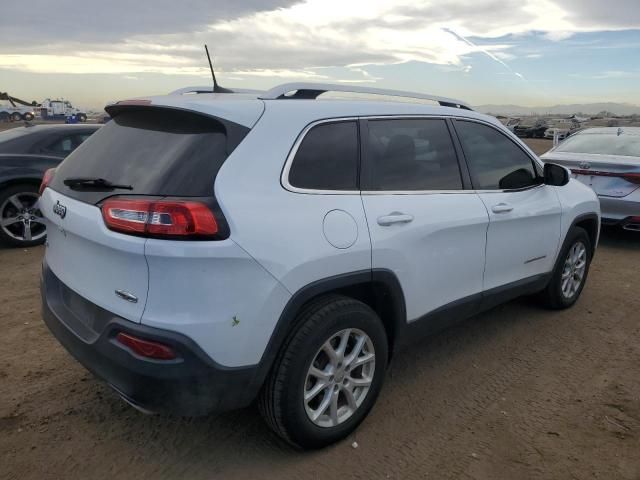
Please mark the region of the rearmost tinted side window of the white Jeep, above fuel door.
<svg viewBox="0 0 640 480"><path fill-rule="evenodd" d="M358 125L323 123L307 132L289 170L289 184L311 190L358 189Z"/></svg>

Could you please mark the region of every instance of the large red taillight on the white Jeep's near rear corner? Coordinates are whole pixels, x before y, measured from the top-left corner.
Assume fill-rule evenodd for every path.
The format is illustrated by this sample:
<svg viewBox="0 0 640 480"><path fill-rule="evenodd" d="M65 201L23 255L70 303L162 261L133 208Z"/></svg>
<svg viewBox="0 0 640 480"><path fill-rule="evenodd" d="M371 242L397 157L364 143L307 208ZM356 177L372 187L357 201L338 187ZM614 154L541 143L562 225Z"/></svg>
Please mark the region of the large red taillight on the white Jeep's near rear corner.
<svg viewBox="0 0 640 480"><path fill-rule="evenodd" d="M187 200L108 199L102 205L107 228L149 237L211 238L218 223L209 207Z"/></svg>

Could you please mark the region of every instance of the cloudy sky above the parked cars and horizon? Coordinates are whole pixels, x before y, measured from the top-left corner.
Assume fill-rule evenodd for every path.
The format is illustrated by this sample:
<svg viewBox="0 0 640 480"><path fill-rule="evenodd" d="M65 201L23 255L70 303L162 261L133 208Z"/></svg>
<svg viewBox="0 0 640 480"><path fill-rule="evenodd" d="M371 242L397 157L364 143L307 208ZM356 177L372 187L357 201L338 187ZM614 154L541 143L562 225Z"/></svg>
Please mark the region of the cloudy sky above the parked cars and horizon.
<svg viewBox="0 0 640 480"><path fill-rule="evenodd" d="M84 108L353 83L472 105L640 105L640 0L3 0L0 91Z"/></svg>

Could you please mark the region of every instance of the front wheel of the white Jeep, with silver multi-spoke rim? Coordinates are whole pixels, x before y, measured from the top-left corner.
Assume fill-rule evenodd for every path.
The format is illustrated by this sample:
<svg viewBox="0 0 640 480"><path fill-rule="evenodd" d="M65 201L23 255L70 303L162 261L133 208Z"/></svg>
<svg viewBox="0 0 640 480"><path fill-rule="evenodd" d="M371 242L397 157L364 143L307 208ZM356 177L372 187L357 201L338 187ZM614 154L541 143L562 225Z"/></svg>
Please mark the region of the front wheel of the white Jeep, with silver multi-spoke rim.
<svg viewBox="0 0 640 480"><path fill-rule="evenodd" d="M580 247L581 245L581 247ZM577 248L578 250L573 250ZM570 278L574 280L574 286L571 289L563 288L564 277L567 276L568 271L576 272L579 270L577 265L580 262L576 262L576 266L572 267L569 265L571 260L569 259L569 255L572 253L576 253L577 251L582 251L583 254L581 256L582 261L584 262L584 266L582 269L582 276L580 278L579 284L575 285L575 276L574 273L569 275ZM589 274L589 265L591 263L591 240L589 239L589 235L587 232L580 227L573 227L569 230L567 234L567 238L564 241L562 246L562 250L560 251L560 255L558 255L558 260L556 261L556 266L553 270L553 274L551 280L547 287L541 292L541 300L548 307L554 310L561 310L564 308L569 308L572 306L582 293L582 289L584 288L584 284L587 281L587 275ZM567 270L569 268L569 270ZM573 270L572 270L573 268Z"/></svg>

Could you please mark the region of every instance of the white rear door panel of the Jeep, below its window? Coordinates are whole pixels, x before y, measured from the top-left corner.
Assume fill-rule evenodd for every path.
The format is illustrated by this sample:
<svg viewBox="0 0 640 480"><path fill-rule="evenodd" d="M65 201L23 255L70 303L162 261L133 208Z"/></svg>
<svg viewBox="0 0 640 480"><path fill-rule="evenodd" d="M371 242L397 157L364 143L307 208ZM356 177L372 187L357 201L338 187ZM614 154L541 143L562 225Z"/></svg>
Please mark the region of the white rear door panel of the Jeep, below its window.
<svg viewBox="0 0 640 480"><path fill-rule="evenodd" d="M478 195L363 195L373 268L391 270L404 292L407 320L482 291L487 211ZM380 225L391 213L408 223Z"/></svg>

